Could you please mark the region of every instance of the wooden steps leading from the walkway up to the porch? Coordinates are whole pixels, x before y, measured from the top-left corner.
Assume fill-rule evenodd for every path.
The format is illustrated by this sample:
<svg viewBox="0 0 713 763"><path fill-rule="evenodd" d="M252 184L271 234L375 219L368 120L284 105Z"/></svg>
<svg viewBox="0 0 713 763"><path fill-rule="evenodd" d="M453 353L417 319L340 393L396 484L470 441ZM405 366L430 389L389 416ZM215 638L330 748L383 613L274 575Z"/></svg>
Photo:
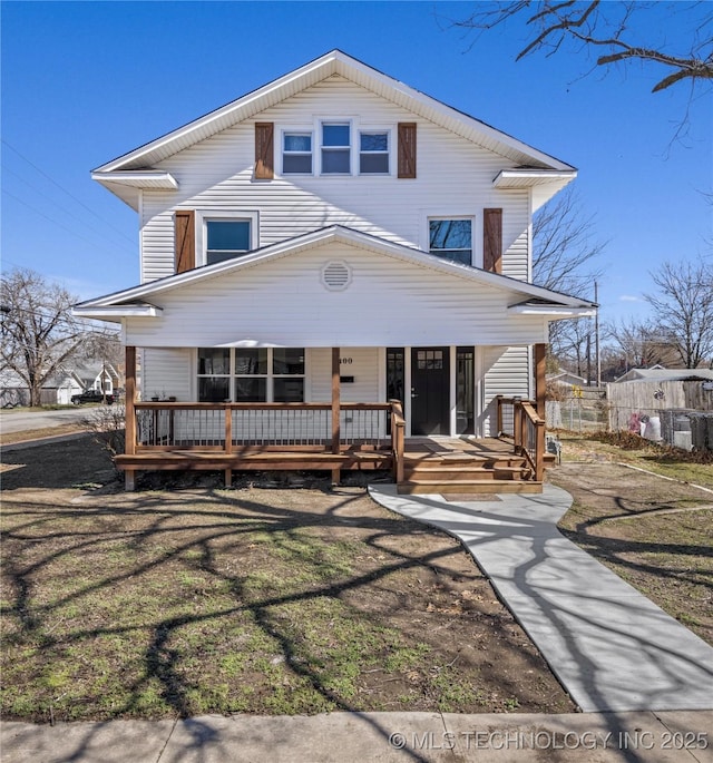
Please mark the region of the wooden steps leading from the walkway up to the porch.
<svg viewBox="0 0 713 763"><path fill-rule="evenodd" d="M540 492L520 456L471 449L404 454L400 493Z"/></svg>

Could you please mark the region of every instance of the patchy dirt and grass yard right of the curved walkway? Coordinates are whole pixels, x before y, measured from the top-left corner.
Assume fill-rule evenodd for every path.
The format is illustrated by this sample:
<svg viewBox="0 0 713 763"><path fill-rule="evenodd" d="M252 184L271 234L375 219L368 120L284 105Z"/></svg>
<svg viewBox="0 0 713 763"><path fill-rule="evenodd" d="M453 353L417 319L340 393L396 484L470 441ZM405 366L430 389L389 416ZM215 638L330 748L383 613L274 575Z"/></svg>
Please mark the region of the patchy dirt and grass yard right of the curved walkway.
<svg viewBox="0 0 713 763"><path fill-rule="evenodd" d="M575 499L563 532L713 644L713 495L582 448L548 472Z"/></svg>

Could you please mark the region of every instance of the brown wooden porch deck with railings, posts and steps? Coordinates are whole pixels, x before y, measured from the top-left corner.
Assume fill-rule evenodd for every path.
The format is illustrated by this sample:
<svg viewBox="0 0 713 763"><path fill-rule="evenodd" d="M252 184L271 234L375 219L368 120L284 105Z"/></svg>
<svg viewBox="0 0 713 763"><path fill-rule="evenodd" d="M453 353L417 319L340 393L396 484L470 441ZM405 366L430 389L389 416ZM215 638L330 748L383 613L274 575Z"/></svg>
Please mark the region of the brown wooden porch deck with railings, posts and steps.
<svg viewBox="0 0 713 763"><path fill-rule="evenodd" d="M138 401L136 348L126 350L126 448L116 463L133 490L139 471L388 470L401 492L539 491L545 468L545 345L536 345L535 401L494 399L490 437L407 437L402 400L342 399L331 352L330 402Z"/></svg>

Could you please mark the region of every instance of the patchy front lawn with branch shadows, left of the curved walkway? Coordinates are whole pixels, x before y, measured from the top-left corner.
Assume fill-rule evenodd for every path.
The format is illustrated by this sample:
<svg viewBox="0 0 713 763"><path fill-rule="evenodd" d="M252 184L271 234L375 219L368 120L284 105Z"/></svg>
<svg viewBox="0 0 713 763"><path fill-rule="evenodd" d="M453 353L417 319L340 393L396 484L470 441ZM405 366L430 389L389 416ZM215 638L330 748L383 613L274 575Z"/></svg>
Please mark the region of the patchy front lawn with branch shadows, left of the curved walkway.
<svg viewBox="0 0 713 763"><path fill-rule="evenodd" d="M124 493L88 438L4 461L6 718L575 710L462 547L361 487Z"/></svg>

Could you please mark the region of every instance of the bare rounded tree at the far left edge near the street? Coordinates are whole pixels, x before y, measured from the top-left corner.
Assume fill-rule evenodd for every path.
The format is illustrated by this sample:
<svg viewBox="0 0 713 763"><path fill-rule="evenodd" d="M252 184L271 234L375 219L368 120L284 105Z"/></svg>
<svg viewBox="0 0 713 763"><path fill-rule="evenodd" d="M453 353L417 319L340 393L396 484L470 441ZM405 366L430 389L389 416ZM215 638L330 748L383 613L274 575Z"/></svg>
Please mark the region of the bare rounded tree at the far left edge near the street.
<svg viewBox="0 0 713 763"><path fill-rule="evenodd" d="M39 405L45 382L85 342L86 329L70 313L77 300L39 273L17 268L2 276L0 301L0 370L13 371L29 390L30 405Z"/></svg>

